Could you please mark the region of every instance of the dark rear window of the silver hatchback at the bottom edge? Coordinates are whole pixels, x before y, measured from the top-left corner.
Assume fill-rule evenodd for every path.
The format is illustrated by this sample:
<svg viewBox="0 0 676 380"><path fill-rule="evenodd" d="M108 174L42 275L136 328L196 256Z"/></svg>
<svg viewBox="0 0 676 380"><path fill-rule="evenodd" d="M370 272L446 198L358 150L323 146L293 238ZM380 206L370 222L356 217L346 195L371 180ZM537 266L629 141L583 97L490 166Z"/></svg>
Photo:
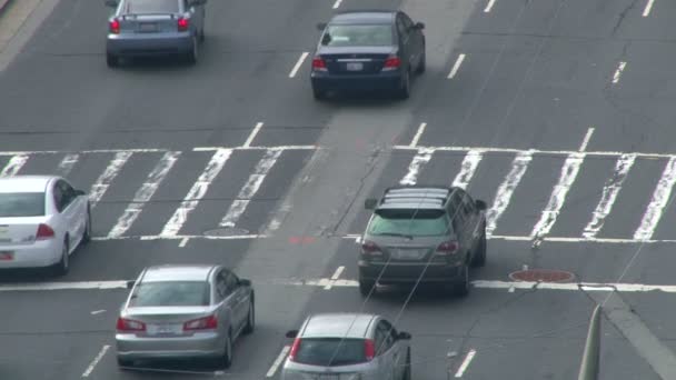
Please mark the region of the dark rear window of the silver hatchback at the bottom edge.
<svg viewBox="0 0 676 380"><path fill-rule="evenodd" d="M336 367L366 361L362 339L304 338L300 340L296 361L304 364Z"/></svg>

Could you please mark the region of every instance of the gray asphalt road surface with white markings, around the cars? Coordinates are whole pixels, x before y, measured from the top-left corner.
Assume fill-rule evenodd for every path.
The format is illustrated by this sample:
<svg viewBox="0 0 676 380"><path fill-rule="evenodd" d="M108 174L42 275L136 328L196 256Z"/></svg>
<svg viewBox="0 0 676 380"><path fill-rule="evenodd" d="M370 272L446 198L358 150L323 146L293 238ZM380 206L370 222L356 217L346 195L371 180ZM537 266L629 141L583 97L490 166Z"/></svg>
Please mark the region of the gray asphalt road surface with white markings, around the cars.
<svg viewBox="0 0 676 380"><path fill-rule="evenodd" d="M406 101L318 103L309 58L294 68L317 22L361 8L425 22L427 72ZM210 0L196 67L116 70L107 14L102 0L27 0L0 19L2 176L61 173L96 202L96 241L67 277L0 273L1 379L277 378L288 329L358 310L412 333L414 379L571 379L607 294L577 282L616 284L636 316L604 319L600 378L659 379L636 347L676 338L676 2ZM467 299L359 296L364 199L397 183L488 202ZM232 368L118 369L121 281L193 262L255 283L257 331ZM511 282L524 268L575 280Z"/></svg>

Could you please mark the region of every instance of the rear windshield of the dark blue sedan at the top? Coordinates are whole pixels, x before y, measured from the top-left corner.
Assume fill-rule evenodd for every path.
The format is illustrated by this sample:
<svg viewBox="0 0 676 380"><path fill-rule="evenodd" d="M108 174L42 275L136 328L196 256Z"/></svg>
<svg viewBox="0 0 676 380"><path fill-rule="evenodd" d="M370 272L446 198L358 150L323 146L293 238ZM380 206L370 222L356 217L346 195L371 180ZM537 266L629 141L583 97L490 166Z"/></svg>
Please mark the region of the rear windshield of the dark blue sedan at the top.
<svg viewBox="0 0 676 380"><path fill-rule="evenodd" d="M394 44L389 24L332 24L321 38L326 47L389 47Z"/></svg>

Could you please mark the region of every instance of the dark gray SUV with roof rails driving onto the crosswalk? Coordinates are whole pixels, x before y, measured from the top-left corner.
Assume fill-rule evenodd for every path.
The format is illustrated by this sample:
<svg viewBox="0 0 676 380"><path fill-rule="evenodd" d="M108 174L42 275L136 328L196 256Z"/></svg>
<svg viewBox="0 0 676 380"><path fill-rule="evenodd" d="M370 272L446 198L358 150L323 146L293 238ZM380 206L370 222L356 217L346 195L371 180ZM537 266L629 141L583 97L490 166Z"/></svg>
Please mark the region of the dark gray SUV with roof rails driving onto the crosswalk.
<svg viewBox="0 0 676 380"><path fill-rule="evenodd" d="M396 187L374 209L361 237L359 291L377 283L438 282L469 292L469 267L486 263L486 202L460 188Z"/></svg>

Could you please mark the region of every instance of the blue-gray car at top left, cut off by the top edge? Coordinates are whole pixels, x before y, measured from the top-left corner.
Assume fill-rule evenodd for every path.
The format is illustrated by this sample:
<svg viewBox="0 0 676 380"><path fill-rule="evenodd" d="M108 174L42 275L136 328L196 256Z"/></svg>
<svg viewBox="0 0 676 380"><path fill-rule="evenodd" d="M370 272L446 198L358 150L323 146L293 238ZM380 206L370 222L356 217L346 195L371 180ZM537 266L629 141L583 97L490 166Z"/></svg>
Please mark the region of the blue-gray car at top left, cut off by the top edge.
<svg viewBox="0 0 676 380"><path fill-rule="evenodd" d="M205 39L207 0L106 0L115 12L108 19L106 61L169 54L196 63Z"/></svg>

